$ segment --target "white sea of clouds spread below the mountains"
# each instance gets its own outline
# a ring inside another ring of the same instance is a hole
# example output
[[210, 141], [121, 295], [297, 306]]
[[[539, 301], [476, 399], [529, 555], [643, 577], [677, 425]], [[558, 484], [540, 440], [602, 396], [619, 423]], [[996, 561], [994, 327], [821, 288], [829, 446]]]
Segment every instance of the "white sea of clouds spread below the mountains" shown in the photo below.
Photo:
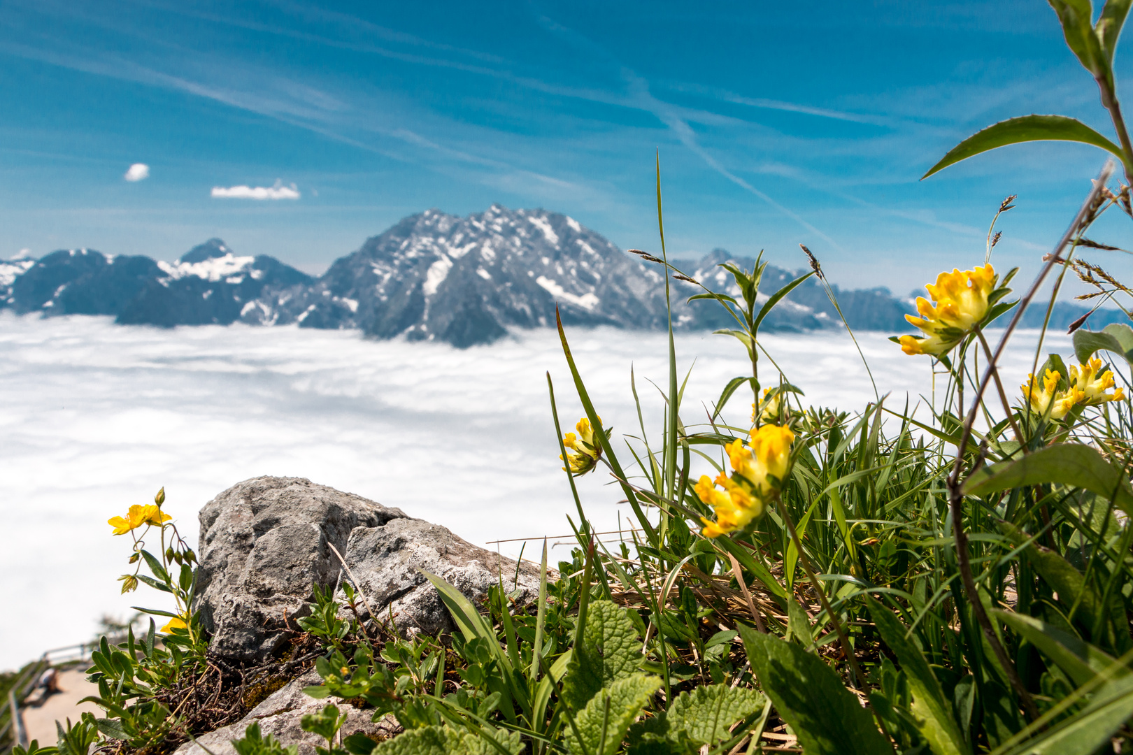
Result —
[[[666, 337], [568, 333], [607, 427], [661, 435]], [[1013, 394], [1031, 368], [1037, 334], [1019, 334], [1003, 364]], [[931, 396], [927, 357], [906, 357], [883, 334], [860, 334], [888, 404]], [[767, 335], [763, 343], [816, 405], [860, 410], [874, 388], [840, 333]], [[727, 336], [676, 338], [681, 376], [692, 367], [682, 417], [706, 417], [723, 385], [750, 369]], [[1068, 355], [1070, 340], [1045, 350]], [[695, 360], [695, 364], [693, 364]], [[775, 368], [760, 361], [767, 385]], [[220, 491], [262, 474], [305, 477], [443, 524], [516, 556], [520, 541], [563, 535], [574, 513], [547, 397], [555, 383], [564, 430], [580, 415], [553, 331], [518, 333], [465, 351], [375, 342], [353, 331], [295, 327], [121, 327], [108, 318], [0, 316], [0, 669], [90, 640], [102, 615], [160, 604], [142, 587], [119, 594], [127, 538], [107, 520], [167, 491], [165, 511], [196, 542], [196, 513]], [[731, 418], [743, 421], [750, 397]], [[920, 410], [927, 420], [928, 413]], [[628, 454], [625, 454], [628, 456]], [[599, 527], [625, 525], [627, 507], [600, 471], [579, 481]], [[576, 517], [577, 518], [577, 517]], [[553, 551], [565, 556], [569, 542]], [[525, 557], [537, 557], [537, 542]]]

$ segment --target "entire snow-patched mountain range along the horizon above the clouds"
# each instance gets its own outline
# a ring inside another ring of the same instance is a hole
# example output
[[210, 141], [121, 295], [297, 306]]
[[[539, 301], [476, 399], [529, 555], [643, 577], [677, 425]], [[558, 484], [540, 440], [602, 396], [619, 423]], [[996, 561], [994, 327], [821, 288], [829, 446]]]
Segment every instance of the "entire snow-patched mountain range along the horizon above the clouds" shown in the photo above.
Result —
[[[674, 265], [714, 291], [739, 297], [731, 276], [718, 267], [724, 261], [749, 269], [755, 264], [716, 249]], [[798, 275], [768, 266], [760, 295]], [[676, 328], [733, 325], [718, 303], [687, 301], [701, 292], [698, 286], [678, 280], [671, 285]], [[884, 288], [832, 288], [854, 329], [909, 332], [904, 315], [913, 311], [911, 298]], [[91, 249], [0, 261], [0, 309], [111, 315], [123, 325], [298, 323], [467, 348], [503, 337], [509, 328], [553, 325], [556, 306], [568, 325], [662, 328], [663, 268], [560, 213], [500, 205], [467, 217], [436, 209], [406, 217], [317, 278], [274, 257], [238, 256], [220, 239], [174, 263]], [[1085, 311], [1059, 303], [1051, 326], [1066, 327]], [[1114, 315], [1099, 311], [1090, 325], [1124, 319]], [[1028, 320], [1034, 321], [1024, 325], [1039, 325], [1041, 317], [1039, 310], [1029, 311]], [[842, 327], [841, 316], [815, 277], [792, 291], [764, 324], [765, 329], [793, 332], [836, 327]]]

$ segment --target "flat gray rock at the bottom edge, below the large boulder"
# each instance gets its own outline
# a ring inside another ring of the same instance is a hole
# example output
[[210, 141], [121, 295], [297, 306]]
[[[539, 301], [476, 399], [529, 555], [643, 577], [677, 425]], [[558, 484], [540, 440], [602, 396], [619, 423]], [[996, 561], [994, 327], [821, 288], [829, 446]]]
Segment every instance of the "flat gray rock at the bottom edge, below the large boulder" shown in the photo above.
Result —
[[245, 730], [257, 722], [263, 736], [271, 735], [284, 745], [298, 745], [299, 755], [315, 755], [315, 747], [325, 747], [326, 740], [316, 733], [304, 731], [303, 717], [317, 713], [327, 703], [334, 703], [341, 713], [347, 714], [347, 721], [342, 724], [344, 735], [358, 732], [382, 740], [401, 731], [401, 727], [392, 717], [373, 722], [370, 721], [373, 711], [358, 710], [337, 697], [315, 700], [304, 694], [304, 687], [321, 681], [317, 674], [308, 671], [256, 705], [241, 720], [201, 735], [196, 741], [185, 743], [177, 748], [174, 755], [236, 755], [232, 740], [241, 738]]

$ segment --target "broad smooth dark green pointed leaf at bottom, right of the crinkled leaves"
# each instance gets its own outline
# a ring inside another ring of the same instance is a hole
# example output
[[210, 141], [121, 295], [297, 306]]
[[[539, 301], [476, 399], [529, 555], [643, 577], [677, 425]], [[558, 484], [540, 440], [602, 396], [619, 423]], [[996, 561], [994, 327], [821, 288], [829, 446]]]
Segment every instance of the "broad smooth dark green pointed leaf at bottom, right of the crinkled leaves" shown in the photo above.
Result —
[[799, 645], [739, 627], [748, 660], [807, 755], [892, 755], [870, 714], [826, 662]]

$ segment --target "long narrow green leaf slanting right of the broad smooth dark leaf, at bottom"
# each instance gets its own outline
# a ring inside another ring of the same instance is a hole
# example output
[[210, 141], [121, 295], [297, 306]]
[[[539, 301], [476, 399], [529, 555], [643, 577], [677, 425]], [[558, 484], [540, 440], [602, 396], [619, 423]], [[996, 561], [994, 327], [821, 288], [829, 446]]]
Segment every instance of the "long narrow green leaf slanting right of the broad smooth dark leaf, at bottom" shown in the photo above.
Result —
[[869, 597], [866, 602], [881, 640], [897, 654], [901, 669], [909, 680], [913, 694], [911, 709], [917, 730], [936, 755], [966, 755], [971, 750], [952, 715], [952, 705], [944, 695], [944, 688], [932, 674], [925, 655], [905, 636], [904, 626], [889, 609]]

